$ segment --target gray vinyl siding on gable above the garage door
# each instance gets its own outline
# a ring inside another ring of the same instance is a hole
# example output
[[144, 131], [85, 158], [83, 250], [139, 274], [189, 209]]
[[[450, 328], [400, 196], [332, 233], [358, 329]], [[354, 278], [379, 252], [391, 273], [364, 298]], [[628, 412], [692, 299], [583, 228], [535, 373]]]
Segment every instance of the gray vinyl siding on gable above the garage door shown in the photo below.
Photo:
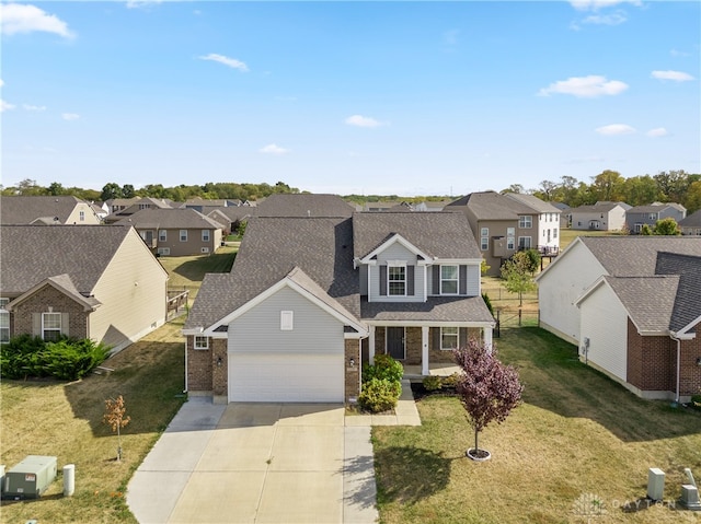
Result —
[[[280, 312], [294, 328], [280, 329]], [[265, 340], [262, 345], [261, 340]], [[229, 324], [229, 351], [343, 353], [343, 323], [290, 288], [283, 288]]]

